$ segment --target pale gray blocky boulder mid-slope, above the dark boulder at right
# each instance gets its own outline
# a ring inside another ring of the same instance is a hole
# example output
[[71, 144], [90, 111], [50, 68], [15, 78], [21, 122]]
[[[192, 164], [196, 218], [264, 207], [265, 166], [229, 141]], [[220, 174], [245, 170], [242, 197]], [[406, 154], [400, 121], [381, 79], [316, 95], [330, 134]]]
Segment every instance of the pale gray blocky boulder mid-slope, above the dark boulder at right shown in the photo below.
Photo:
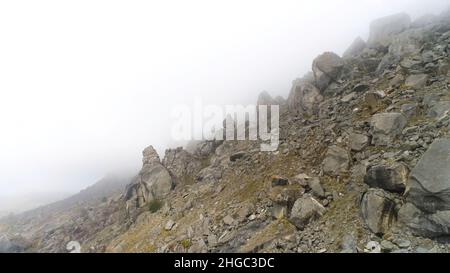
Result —
[[372, 144], [387, 146], [399, 136], [407, 124], [401, 113], [381, 113], [372, 117]]

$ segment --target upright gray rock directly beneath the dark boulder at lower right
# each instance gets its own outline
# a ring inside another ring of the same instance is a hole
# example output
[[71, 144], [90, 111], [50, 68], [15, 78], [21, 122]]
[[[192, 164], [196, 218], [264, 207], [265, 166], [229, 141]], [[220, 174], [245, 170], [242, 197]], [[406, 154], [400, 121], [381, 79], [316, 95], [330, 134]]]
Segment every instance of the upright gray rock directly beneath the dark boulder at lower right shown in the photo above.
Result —
[[395, 201], [381, 189], [369, 189], [360, 203], [361, 216], [373, 233], [382, 235], [396, 221]]

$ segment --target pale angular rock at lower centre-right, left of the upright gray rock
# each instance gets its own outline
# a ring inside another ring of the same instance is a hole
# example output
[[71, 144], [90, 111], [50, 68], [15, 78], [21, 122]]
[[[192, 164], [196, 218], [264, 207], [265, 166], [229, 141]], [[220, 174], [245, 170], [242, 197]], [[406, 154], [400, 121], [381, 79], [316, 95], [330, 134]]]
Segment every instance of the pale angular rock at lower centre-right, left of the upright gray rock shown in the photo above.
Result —
[[304, 229], [310, 222], [322, 217], [326, 209], [316, 199], [303, 196], [295, 201], [289, 221], [298, 229]]

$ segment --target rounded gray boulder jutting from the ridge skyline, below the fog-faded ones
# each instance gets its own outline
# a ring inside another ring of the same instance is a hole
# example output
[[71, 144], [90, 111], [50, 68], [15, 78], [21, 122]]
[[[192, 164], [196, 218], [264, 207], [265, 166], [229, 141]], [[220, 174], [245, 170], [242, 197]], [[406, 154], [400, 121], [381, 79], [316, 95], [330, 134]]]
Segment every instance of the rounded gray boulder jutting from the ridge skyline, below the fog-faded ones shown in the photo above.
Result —
[[336, 81], [343, 66], [342, 58], [333, 52], [325, 52], [314, 59], [312, 70], [317, 88], [324, 91], [331, 82]]

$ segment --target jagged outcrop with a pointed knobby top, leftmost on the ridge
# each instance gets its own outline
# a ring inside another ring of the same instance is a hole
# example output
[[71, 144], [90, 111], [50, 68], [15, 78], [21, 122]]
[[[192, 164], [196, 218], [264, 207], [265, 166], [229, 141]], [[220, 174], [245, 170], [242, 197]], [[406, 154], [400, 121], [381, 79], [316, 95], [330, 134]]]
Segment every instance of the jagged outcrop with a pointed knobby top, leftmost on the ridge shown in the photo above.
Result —
[[161, 164], [153, 146], [145, 148], [142, 154], [142, 169], [127, 186], [125, 194], [129, 210], [143, 207], [152, 200], [165, 198], [174, 186], [169, 171]]

